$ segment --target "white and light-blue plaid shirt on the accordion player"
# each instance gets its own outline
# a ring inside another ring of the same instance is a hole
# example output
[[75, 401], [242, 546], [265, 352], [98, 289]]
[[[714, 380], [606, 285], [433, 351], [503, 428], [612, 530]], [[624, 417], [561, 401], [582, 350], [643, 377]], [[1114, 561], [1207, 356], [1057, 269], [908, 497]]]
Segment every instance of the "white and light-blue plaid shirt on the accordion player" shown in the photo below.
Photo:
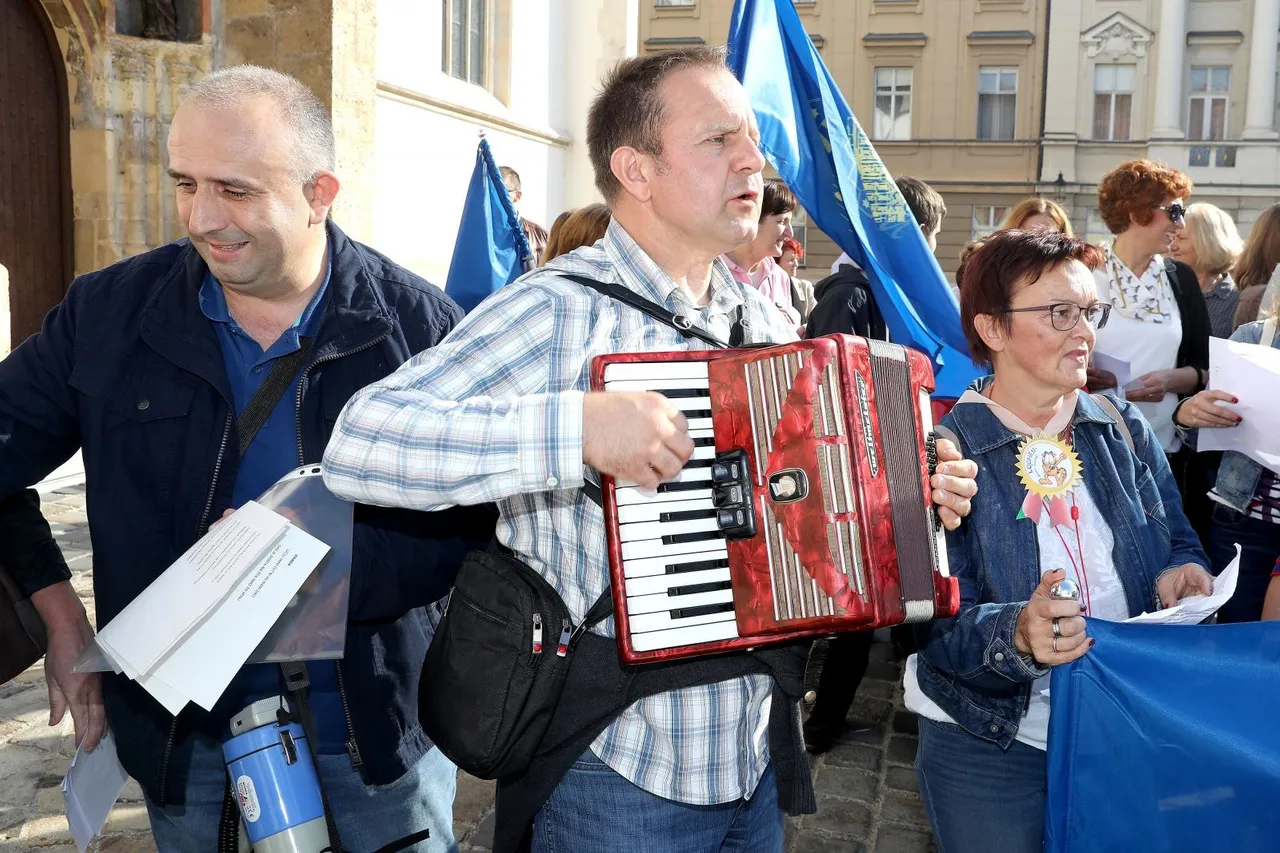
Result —
[[[584, 483], [582, 394], [607, 352], [707, 348], [648, 315], [561, 278], [616, 282], [728, 338], [744, 306], [745, 342], [795, 339], [753, 288], [712, 272], [699, 309], [616, 222], [595, 246], [486, 298], [439, 346], [347, 405], [325, 452], [325, 483], [362, 503], [438, 510], [497, 501], [498, 539], [539, 571], [579, 622], [608, 585], [604, 517]], [[598, 476], [593, 473], [593, 479]], [[596, 629], [613, 637], [613, 619]], [[764, 675], [649, 697], [591, 744], [640, 788], [681, 803], [750, 797], [768, 766]]]

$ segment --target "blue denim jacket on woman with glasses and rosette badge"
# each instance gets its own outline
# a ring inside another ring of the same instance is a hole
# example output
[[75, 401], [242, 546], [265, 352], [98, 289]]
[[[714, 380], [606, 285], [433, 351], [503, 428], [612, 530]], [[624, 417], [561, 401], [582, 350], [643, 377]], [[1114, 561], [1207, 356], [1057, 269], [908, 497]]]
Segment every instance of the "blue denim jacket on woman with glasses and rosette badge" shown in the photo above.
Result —
[[[1129, 402], [1117, 409], [1133, 450], [1115, 420], [1080, 394], [1071, 442], [1089, 494], [1115, 537], [1112, 558], [1129, 612], [1157, 610], [1156, 579], [1187, 562], [1208, 566], [1183, 515], [1181, 498], [1156, 434]], [[970, 734], [1009, 748], [1030, 701], [1032, 681], [1048, 674], [1014, 646], [1018, 616], [1039, 584], [1036, 523], [1015, 520], [1025, 497], [1018, 479], [1019, 437], [987, 406], [956, 406], [942, 419], [978, 464], [978, 496], [959, 530], [947, 533], [951, 574], [960, 580], [960, 612], [918, 629], [920, 689]]]

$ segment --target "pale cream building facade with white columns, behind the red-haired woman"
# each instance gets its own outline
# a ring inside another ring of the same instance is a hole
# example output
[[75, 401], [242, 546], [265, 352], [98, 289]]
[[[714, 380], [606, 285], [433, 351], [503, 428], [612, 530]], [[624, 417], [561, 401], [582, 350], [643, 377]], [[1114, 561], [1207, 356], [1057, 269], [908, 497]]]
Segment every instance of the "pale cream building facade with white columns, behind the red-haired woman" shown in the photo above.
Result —
[[1280, 199], [1280, 0], [1053, 0], [1048, 41], [1039, 190], [1091, 240], [1124, 160], [1185, 172], [1242, 234]]

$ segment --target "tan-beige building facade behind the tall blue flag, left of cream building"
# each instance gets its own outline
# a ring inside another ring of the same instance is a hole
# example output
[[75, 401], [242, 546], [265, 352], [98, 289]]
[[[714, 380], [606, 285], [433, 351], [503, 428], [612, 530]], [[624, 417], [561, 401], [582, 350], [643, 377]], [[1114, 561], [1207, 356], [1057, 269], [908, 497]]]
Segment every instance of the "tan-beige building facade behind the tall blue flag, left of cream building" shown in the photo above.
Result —
[[[1059, 0], [1055, 0], [1055, 5]], [[641, 50], [724, 44], [733, 0], [643, 0]], [[1034, 193], [1041, 174], [1046, 0], [796, 0], [800, 20], [895, 175], [947, 202], [938, 263]], [[809, 275], [840, 250], [800, 216]]]

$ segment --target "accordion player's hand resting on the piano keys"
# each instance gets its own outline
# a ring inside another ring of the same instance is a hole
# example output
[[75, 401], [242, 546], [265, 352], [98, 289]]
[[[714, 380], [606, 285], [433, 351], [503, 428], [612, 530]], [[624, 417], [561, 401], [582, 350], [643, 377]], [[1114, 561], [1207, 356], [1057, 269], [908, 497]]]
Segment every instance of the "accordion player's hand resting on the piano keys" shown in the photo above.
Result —
[[675, 479], [694, 453], [689, 420], [652, 392], [589, 392], [582, 397], [582, 461], [655, 489]]

